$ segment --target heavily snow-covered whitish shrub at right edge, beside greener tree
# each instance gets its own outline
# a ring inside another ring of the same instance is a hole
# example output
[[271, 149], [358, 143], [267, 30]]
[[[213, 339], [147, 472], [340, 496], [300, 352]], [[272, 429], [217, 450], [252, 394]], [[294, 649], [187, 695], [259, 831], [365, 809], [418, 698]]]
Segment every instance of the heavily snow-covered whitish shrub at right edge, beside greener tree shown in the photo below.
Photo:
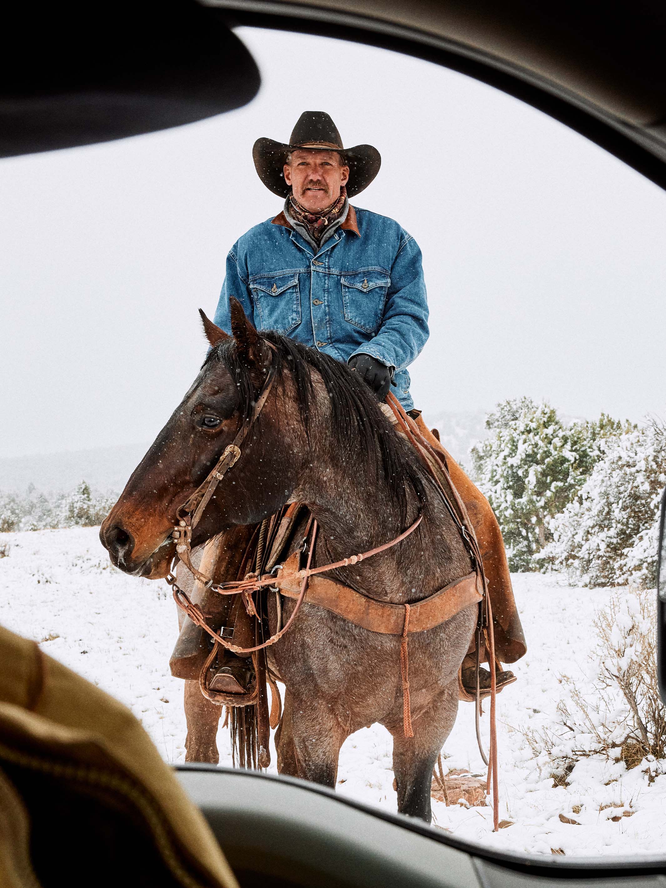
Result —
[[551, 520], [543, 563], [586, 586], [654, 586], [666, 427], [632, 428], [600, 447], [579, 495]]

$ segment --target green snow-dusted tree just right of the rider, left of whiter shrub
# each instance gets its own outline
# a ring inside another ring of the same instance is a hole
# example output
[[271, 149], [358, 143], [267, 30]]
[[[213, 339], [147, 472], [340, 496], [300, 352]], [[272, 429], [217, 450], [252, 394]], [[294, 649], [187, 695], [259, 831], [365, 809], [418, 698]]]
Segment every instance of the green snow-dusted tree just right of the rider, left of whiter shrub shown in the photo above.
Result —
[[549, 404], [529, 398], [498, 404], [486, 425], [492, 434], [471, 450], [476, 480], [499, 521], [511, 570], [539, 570], [535, 554], [552, 540], [551, 519], [582, 487], [602, 440], [622, 425], [602, 414], [567, 426]]

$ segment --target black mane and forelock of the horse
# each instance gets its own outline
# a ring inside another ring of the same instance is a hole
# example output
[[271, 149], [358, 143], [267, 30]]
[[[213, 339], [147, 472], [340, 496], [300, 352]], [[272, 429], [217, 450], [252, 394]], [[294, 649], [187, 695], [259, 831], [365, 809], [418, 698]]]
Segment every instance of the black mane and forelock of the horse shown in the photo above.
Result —
[[[430, 479], [416, 454], [393, 432], [369, 386], [328, 354], [281, 336], [274, 330], [262, 331], [261, 335], [275, 346], [276, 379], [281, 380], [286, 372], [293, 379], [305, 432], [309, 435], [315, 396], [311, 371], [315, 370], [329, 392], [331, 428], [336, 433], [340, 450], [354, 462], [364, 462], [364, 468], [376, 480], [380, 477], [386, 480], [389, 494], [399, 511], [401, 526], [407, 520], [408, 490], [416, 495], [419, 509], [424, 511], [428, 503], [425, 487], [430, 486]], [[249, 419], [257, 394], [256, 384], [250, 368], [239, 356], [235, 340], [230, 337], [211, 348], [203, 367], [211, 361], [223, 363], [235, 379], [239, 392], [238, 409], [244, 419]]]

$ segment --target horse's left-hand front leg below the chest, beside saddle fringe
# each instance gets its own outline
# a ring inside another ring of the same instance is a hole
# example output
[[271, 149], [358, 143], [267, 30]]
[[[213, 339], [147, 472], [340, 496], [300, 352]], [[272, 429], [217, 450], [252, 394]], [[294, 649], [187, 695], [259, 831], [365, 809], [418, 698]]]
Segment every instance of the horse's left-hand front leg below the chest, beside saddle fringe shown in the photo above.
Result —
[[278, 771], [335, 789], [345, 737], [324, 702], [285, 694], [278, 738]]

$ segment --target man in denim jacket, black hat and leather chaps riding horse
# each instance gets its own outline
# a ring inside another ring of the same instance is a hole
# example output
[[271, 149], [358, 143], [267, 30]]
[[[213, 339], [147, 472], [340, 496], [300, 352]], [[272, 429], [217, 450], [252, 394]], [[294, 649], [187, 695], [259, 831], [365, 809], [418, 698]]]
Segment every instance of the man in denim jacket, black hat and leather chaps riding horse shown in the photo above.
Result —
[[[284, 199], [284, 206], [273, 219], [243, 234], [229, 251], [215, 324], [231, 330], [230, 297], [235, 297], [259, 331], [276, 330], [345, 362], [378, 400], [392, 392], [421, 434], [445, 456], [483, 559], [500, 690], [515, 680], [502, 670], [501, 662], [515, 662], [527, 649], [502, 535], [488, 501], [426, 428], [409, 393], [408, 365], [428, 338], [421, 250], [393, 219], [349, 202], [377, 176], [379, 152], [369, 145], [343, 147], [328, 114], [306, 111], [289, 143], [258, 139], [253, 158], [259, 178]], [[231, 559], [229, 569], [235, 567]], [[241, 608], [229, 622], [242, 618]], [[188, 657], [191, 650], [181, 638], [170, 662], [174, 675], [192, 678]], [[485, 652], [481, 659], [490, 660]], [[459, 678], [462, 700], [474, 698], [477, 664], [472, 639]], [[212, 686], [242, 694], [251, 678], [251, 661], [226, 652]], [[479, 680], [481, 692], [488, 693], [488, 670], [480, 670]]]

